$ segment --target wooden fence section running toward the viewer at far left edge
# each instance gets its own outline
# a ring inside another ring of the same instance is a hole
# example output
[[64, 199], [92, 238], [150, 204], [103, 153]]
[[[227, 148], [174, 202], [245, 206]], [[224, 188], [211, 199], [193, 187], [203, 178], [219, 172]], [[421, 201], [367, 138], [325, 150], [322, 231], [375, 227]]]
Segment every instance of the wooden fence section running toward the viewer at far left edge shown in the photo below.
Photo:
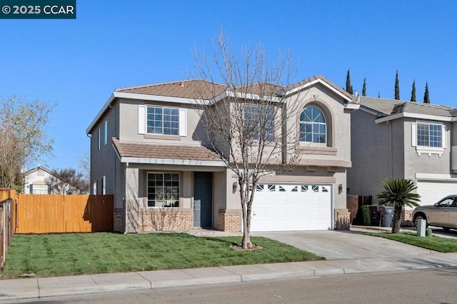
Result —
[[0, 189], [0, 265], [16, 228], [16, 191]]

